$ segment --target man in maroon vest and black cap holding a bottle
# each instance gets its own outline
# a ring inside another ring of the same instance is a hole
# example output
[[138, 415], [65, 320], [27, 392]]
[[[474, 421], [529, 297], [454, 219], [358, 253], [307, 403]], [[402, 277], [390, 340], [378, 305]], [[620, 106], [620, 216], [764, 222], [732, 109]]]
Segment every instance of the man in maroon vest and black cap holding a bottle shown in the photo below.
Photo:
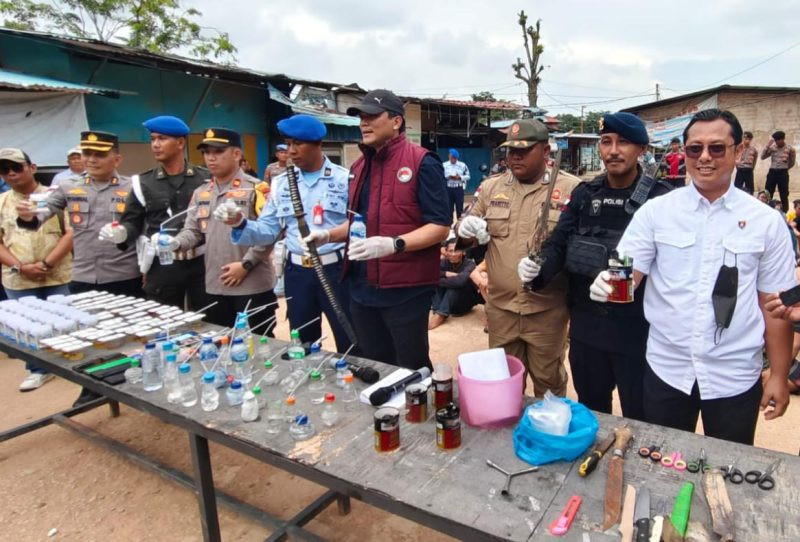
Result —
[[[373, 90], [347, 114], [361, 118], [363, 153], [350, 168], [349, 202], [367, 226], [365, 239], [348, 242], [343, 273], [358, 346], [384, 363], [430, 367], [428, 312], [452, 221], [442, 162], [406, 139], [403, 102], [392, 92]], [[349, 225], [304, 241], [347, 241]]]

